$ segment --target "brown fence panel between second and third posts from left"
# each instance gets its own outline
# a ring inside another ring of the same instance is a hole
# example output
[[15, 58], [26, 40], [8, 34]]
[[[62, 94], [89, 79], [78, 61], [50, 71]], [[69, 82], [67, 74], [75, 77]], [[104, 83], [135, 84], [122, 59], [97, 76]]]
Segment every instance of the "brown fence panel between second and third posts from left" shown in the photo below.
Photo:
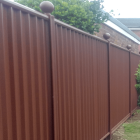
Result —
[[129, 114], [129, 52], [110, 49], [111, 128]]

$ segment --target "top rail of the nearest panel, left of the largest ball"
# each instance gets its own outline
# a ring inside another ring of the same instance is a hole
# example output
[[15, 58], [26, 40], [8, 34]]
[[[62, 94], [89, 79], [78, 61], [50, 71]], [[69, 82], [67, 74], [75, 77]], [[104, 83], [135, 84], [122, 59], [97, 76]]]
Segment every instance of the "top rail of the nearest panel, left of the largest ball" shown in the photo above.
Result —
[[44, 15], [36, 10], [33, 10], [29, 7], [26, 7], [22, 4], [19, 4], [17, 2], [13, 2], [13, 1], [10, 1], [10, 0], [0, 0], [0, 3], [4, 4], [4, 5], [7, 5], [7, 6], [10, 6], [10, 7], [13, 7], [15, 9], [18, 9], [18, 10], [21, 10], [23, 12], [27, 12], [33, 16], [37, 16], [37, 17], [40, 17], [40, 18], [43, 18], [45, 20], [48, 20], [48, 16], [47, 15]]

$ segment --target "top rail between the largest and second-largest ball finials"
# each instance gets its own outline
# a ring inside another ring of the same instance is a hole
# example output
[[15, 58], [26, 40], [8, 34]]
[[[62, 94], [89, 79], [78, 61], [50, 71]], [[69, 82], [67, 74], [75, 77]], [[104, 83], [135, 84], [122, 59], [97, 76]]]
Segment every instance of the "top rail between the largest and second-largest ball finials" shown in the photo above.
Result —
[[55, 19], [55, 22], [56, 22], [58, 25], [60, 25], [60, 26], [66, 27], [66, 28], [68, 28], [68, 29], [72, 29], [72, 30], [74, 30], [74, 31], [76, 31], [76, 32], [78, 32], [78, 33], [83, 34], [83, 35], [87, 35], [87, 36], [89, 36], [89, 37], [91, 37], [91, 38], [95, 38], [95, 39], [100, 40], [100, 41], [105, 42], [105, 43], [108, 42], [108, 41], [106, 41], [106, 40], [104, 40], [104, 39], [102, 39], [102, 38], [99, 38], [99, 37], [97, 37], [97, 36], [95, 36], [95, 35], [89, 34], [89, 33], [85, 32], [85, 31], [83, 31], [83, 30], [80, 30], [80, 29], [78, 29], [78, 28], [76, 28], [76, 27], [73, 27], [73, 26], [71, 26], [71, 25], [69, 25], [69, 24], [67, 24], [67, 23], [64, 23], [64, 22], [60, 21], [60, 20]]

